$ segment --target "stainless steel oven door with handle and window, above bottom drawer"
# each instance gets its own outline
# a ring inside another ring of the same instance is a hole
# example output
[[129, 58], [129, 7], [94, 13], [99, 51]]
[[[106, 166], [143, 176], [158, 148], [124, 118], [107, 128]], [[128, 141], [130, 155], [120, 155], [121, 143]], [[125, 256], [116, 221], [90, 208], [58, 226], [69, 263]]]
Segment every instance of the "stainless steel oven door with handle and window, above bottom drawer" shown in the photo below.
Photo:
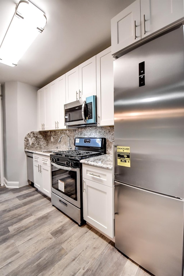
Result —
[[65, 167], [51, 162], [51, 192], [81, 208], [80, 169]]

